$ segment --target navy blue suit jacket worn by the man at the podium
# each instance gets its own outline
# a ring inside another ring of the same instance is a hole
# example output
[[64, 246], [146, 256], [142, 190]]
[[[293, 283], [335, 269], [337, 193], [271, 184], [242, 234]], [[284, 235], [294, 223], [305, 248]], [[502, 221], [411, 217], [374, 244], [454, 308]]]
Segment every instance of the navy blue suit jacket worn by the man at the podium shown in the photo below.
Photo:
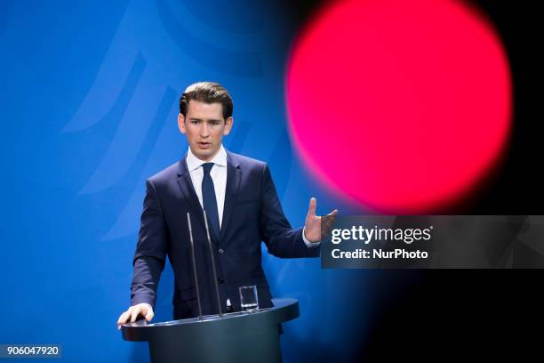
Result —
[[[227, 164], [220, 238], [212, 237], [220, 306], [225, 311], [229, 298], [235, 311], [239, 311], [238, 286], [256, 285], [260, 307], [271, 307], [272, 296], [261, 267], [261, 241], [268, 247], [268, 253], [283, 258], [316, 257], [320, 249], [318, 246], [308, 248], [302, 239], [302, 229], [292, 230], [285, 219], [266, 163], [227, 152]], [[133, 260], [132, 305], [149, 303], [155, 308], [156, 287], [168, 256], [174, 273], [174, 319], [198, 314], [190, 257], [189, 212], [203, 313], [217, 314], [204, 213], [193, 188], [186, 158], [149, 178], [146, 187]]]

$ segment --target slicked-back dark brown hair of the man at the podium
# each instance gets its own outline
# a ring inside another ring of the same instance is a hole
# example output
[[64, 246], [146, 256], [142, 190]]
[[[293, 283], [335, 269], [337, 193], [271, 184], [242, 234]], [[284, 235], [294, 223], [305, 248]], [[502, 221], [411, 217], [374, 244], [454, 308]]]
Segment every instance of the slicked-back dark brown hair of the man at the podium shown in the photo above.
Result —
[[180, 114], [187, 117], [188, 103], [191, 100], [205, 103], [219, 102], [223, 106], [223, 118], [232, 116], [233, 103], [226, 88], [215, 82], [197, 82], [189, 85], [180, 97]]

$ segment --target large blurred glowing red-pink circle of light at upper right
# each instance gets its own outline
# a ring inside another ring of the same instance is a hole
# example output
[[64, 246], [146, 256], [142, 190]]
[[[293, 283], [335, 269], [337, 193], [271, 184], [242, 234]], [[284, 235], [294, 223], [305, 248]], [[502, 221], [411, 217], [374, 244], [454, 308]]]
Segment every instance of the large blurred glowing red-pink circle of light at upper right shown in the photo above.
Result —
[[499, 37], [466, 4], [332, 3], [292, 50], [292, 139], [333, 190], [384, 212], [432, 211], [496, 163], [510, 82]]

